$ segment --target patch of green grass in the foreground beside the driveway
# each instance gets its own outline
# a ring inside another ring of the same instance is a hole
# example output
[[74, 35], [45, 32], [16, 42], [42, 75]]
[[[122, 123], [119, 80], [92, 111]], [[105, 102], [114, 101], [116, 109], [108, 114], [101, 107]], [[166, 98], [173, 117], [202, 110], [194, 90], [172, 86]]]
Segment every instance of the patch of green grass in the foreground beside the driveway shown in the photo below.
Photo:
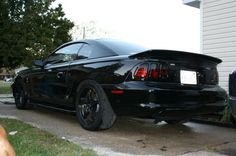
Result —
[[46, 131], [14, 119], [0, 118], [7, 132], [17, 131], [8, 139], [17, 156], [94, 156], [94, 151], [60, 139]]

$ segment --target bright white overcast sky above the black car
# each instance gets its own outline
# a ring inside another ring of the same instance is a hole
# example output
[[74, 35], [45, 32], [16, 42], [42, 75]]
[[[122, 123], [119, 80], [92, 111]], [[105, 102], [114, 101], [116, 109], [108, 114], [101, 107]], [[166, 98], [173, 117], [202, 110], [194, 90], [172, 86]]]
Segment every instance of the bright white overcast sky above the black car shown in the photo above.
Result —
[[182, 0], [56, 0], [54, 5], [58, 3], [75, 25], [95, 21], [109, 37], [155, 49], [200, 52], [200, 10]]

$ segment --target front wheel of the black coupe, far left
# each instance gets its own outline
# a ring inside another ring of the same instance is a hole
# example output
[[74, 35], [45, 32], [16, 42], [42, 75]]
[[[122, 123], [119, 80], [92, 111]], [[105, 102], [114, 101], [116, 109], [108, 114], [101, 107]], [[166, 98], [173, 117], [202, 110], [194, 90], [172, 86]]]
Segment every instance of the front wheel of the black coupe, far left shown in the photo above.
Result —
[[22, 84], [19, 82], [19, 80], [18, 80], [18, 82], [16, 82], [16, 85], [15, 85], [14, 98], [15, 98], [16, 108], [26, 109], [27, 97], [25, 94], [25, 90], [24, 90]]

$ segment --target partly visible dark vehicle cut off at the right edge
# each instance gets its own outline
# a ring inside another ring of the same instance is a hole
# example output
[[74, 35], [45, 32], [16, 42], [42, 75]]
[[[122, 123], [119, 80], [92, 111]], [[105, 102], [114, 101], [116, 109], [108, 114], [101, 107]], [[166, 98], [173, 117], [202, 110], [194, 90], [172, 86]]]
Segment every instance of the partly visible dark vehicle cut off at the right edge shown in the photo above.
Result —
[[229, 74], [229, 106], [231, 121], [236, 124], [236, 70]]

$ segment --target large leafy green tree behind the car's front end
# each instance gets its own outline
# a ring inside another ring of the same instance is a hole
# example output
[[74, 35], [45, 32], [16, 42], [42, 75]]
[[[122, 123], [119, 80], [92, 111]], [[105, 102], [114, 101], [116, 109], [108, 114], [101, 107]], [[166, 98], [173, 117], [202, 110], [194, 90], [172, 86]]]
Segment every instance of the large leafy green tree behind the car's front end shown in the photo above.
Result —
[[74, 24], [55, 0], [0, 2], [0, 67], [31, 66], [57, 46], [70, 41]]

